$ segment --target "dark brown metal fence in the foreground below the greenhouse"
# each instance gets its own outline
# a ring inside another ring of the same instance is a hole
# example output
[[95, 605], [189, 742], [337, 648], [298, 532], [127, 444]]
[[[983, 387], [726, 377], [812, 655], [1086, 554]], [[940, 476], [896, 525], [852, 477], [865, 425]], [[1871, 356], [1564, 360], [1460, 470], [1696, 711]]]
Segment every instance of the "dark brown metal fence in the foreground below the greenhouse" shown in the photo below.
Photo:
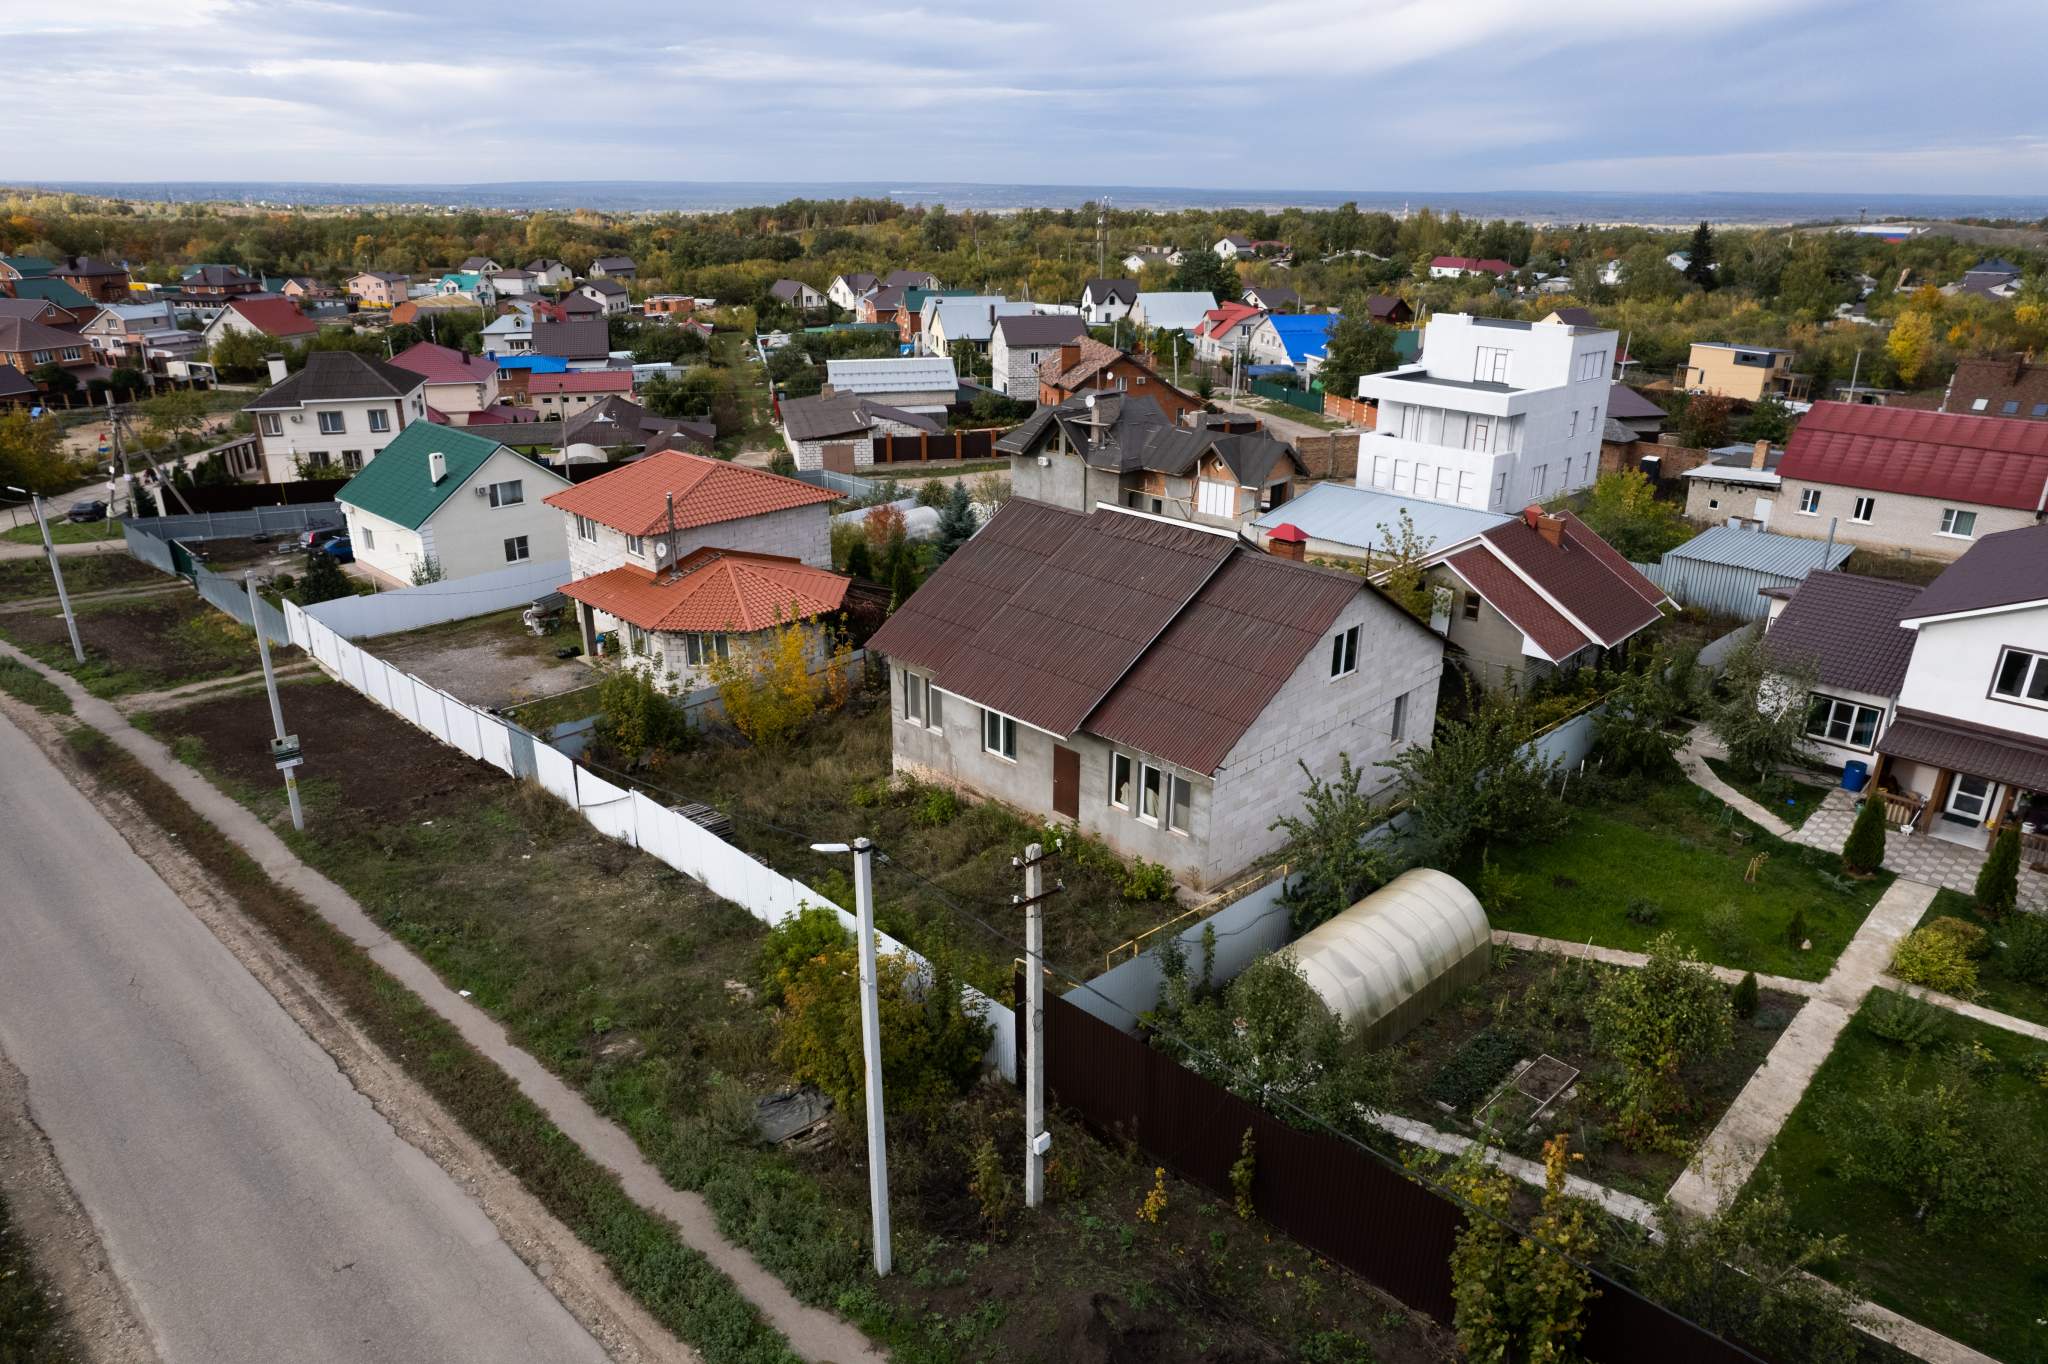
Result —
[[[1018, 985], [1022, 1001], [1022, 975]], [[1044, 1030], [1055, 1104], [1223, 1196], [1251, 1128], [1262, 1219], [1450, 1325], [1450, 1251], [1464, 1227], [1454, 1202], [1346, 1141], [1280, 1122], [1067, 999], [1047, 999]], [[1018, 1028], [1020, 1051], [1024, 1034]], [[1595, 1364], [1759, 1364], [1604, 1274], [1593, 1282], [1581, 1354]]]

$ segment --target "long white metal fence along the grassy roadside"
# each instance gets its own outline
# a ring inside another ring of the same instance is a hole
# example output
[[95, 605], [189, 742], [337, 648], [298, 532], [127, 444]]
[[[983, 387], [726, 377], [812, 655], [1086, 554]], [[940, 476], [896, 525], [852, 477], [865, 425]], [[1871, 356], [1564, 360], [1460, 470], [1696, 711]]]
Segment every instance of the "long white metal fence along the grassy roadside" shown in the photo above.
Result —
[[[393, 592], [387, 596], [403, 594]], [[334, 602], [324, 602], [319, 608], [330, 604]], [[764, 924], [780, 924], [803, 903], [831, 905], [829, 899], [811, 887], [784, 877], [772, 866], [762, 866], [692, 819], [684, 819], [637, 791], [614, 786], [580, 766], [573, 758], [541, 743], [524, 729], [477, 711], [412, 674], [399, 672], [350, 643], [338, 629], [319, 621], [311, 610], [287, 602], [285, 621], [291, 643], [319, 659], [322, 668], [385, 711], [399, 715], [442, 743], [459, 748], [463, 754], [487, 762], [508, 776], [539, 780], [549, 795], [565, 801], [606, 838], [616, 838], [647, 856], [659, 858]], [[838, 909], [836, 905], [831, 907]], [[838, 915], [848, 930], [854, 930], [852, 913], [838, 909]], [[899, 952], [918, 963], [920, 971], [928, 971], [922, 956], [889, 934], [877, 934], [877, 942], [881, 950]], [[1004, 1079], [1016, 1081], [1016, 1012], [977, 989], [967, 989], [967, 1008], [977, 1012], [995, 1032], [989, 1047], [989, 1063], [1001, 1071]]]

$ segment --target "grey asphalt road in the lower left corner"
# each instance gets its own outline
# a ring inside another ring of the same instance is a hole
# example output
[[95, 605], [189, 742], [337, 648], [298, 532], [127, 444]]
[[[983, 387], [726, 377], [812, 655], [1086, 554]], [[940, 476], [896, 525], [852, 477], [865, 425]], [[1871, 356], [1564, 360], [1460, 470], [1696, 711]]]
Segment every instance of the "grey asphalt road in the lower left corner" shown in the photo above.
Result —
[[6, 719], [0, 1049], [166, 1362], [606, 1358]]

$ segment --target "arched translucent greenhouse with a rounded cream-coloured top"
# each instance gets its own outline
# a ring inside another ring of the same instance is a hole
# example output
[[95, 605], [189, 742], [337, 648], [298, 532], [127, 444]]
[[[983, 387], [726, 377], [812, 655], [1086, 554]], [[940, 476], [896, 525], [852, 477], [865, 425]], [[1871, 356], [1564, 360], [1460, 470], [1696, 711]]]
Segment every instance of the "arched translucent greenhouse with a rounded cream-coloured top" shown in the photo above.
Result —
[[1311, 928], [1290, 952], [1329, 1012], [1380, 1047], [1479, 981], [1493, 934], [1464, 883], [1417, 866]]

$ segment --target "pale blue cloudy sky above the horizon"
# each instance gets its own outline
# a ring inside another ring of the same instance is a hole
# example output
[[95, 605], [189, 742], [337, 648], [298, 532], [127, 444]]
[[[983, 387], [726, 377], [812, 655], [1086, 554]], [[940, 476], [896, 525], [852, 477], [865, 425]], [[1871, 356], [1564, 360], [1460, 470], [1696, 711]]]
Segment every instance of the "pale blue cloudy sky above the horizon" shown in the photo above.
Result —
[[2048, 184], [2038, 0], [4, 0], [0, 180]]

